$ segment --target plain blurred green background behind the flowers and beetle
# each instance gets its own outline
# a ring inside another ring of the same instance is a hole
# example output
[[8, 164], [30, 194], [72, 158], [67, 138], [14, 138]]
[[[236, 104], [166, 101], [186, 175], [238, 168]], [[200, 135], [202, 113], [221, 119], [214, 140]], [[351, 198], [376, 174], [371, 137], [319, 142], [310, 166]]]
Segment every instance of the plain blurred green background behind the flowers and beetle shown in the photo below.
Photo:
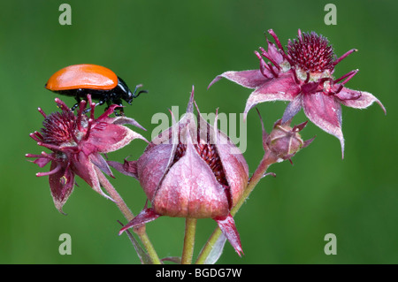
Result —
[[[398, 263], [397, 187], [397, 35], [396, 1], [333, 1], [337, 25], [326, 26], [330, 1], [73, 1], [72, 26], [61, 26], [65, 1], [2, 1], [0, 4], [0, 77], [2, 128], [0, 154], [0, 263], [139, 263], [126, 235], [118, 236], [124, 218], [112, 202], [78, 179], [64, 216], [54, 208], [48, 178], [27, 162], [39, 154], [28, 134], [42, 127], [37, 107], [56, 111], [56, 95], [44, 89], [53, 72], [73, 64], [105, 65], [133, 88], [142, 83], [148, 95], [134, 100], [126, 114], [150, 133], [152, 115], [174, 106], [185, 109], [192, 85], [202, 112], [236, 113], [244, 109], [250, 89], [227, 80], [210, 90], [216, 75], [255, 69], [253, 54], [266, 47], [272, 28], [284, 44], [303, 32], [324, 34], [337, 56], [356, 48], [337, 66], [335, 75], [360, 72], [348, 88], [376, 95], [387, 116], [372, 105], [360, 111], [343, 108], [345, 158], [340, 142], [310, 124], [308, 149], [288, 162], [272, 165], [276, 178], [264, 178], [235, 217], [245, 255], [227, 243], [218, 263]], [[65, 97], [73, 104], [73, 98]], [[266, 128], [281, 117], [286, 103], [258, 106]], [[180, 111], [182, 113], [182, 111]], [[306, 120], [303, 113], [295, 124]], [[255, 111], [249, 112], [250, 172], [263, 149]], [[143, 141], [109, 155], [122, 161], [138, 158]], [[145, 196], [138, 182], [115, 172], [112, 183], [138, 213]], [[215, 227], [198, 221], [195, 255]], [[178, 256], [184, 219], [160, 217], [147, 225], [158, 255]], [[72, 255], [59, 255], [58, 237], [72, 236]], [[337, 236], [337, 255], [325, 255], [325, 234]]]

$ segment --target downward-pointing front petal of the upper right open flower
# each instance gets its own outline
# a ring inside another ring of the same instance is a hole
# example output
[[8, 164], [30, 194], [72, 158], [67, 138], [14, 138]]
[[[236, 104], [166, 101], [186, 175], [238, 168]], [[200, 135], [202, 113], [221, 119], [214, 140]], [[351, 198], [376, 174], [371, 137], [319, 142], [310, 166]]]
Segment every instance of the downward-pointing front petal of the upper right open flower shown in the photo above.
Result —
[[333, 95], [318, 92], [311, 95], [302, 95], [302, 108], [311, 122], [340, 140], [341, 153], [344, 156], [340, 102]]

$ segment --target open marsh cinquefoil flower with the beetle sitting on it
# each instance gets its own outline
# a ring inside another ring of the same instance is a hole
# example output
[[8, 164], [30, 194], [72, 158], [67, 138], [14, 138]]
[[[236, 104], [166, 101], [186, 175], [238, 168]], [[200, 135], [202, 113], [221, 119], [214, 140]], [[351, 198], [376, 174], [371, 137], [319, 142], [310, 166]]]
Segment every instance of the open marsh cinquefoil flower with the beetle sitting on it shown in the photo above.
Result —
[[[27, 154], [34, 157], [34, 164], [40, 167], [50, 164], [50, 171], [38, 172], [37, 176], [49, 176], [50, 191], [57, 210], [63, 213], [69, 195], [73, 192], [75, 175], [80, 176], [97, 193], [109, 198], [103, 193], [97, 173], [104, 173], [113, 177], [111, 170], [100, 153], [108, 153], [121, 149], [135, 138], [145, 140], [141, 134], [135, 133], [123, 124], [130, 124], [142, 128], [133, 118], [109, 116], [118, 105], [111, 105], [99, 118], [94, 118], [95, 103], [90, 104], [90, 117], [83, 114], [86, 101], [80, 102], [77, 116], [64, 102], [55, 99], [61, 111], [46, 115], [39, 108], [44, 117], [41, 132], [30, 133], [30, 137], [39, 146], [50, 149], [52, 153], [42, 152], [41, 155]], [[143, 128], [142, 128], [143, 129]]]

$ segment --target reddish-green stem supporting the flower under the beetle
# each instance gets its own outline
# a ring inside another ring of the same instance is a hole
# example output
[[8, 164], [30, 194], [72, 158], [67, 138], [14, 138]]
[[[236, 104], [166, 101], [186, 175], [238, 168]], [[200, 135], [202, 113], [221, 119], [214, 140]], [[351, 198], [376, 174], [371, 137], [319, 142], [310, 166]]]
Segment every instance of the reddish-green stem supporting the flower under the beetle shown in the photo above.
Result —
[[[126, 217], [126, 220], [127, 221], [133, 220], [134, 218], [133, 212], [127, 207], [126, 202], [123, 201], [123, 198], [120, 196], [118, 191], [116, 191], [115, 187], [113, 187], [111, 185], [111, 182], [103, 175], [103, 172], [100, 171], [98, 168], [96, 168], [96, 174], [101, 183], [101, 186], [105, 188], [106, 192], [108, 192], [108, 194], [111, 196], [111, 198], [116, 203], [123, 216]], [[141, 227], [134, 229], [134, 232], [138, 235], [138, 237], [142, 241], [142, 245], [147, 250], [149, 257], [152, 260], [152, 263], [161, 264], [159, 257], [157, 256], [157, 252], [155, 251], [155, 248], [153, 248], [153, 245], [150, 242], [149, 237], [145, 231], [145, 225], [142, 225]]]

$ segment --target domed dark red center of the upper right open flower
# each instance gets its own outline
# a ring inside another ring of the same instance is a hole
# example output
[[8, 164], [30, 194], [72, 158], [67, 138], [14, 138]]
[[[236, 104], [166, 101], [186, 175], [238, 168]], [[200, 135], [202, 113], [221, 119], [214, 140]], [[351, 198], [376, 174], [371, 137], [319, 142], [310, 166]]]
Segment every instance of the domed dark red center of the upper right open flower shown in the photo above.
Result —
[[287, 54], [296, 68], [304, 72], [333, 71], [333, 47], [328, 40], [314, 32], [302, 34], [293, 42], [287, 43]]

